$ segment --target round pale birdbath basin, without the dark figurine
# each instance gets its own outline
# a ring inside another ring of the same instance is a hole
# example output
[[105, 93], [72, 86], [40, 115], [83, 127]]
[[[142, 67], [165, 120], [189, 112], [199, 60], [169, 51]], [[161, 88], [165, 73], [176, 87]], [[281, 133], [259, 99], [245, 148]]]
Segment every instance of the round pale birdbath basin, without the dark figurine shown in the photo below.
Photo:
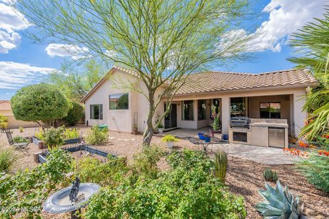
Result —
[[44, 204], [44, 211], [53, 214], [61, 214], [85, 207], [90, 198], [99, 192], [101, 186], [97, 183], [80, 183], [79, 192], [77, 194], [77, 197], [80, 196], [80, 198], [78, 198], [78, 201], [75, 203], [71, 203], [69, 199], [71, 188], [71, 186], [66, 187], [47, 198]]

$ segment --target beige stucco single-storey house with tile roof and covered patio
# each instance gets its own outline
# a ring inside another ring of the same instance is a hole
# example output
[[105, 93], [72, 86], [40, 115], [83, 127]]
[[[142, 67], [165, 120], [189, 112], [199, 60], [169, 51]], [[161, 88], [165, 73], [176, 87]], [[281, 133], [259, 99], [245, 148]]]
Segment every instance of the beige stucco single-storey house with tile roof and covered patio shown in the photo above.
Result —
[[[289, 136], [296, 136], [304, 126], [302, 111], [306, 92], [317, 86], [307, 70], [278, 70], [269, 73], [231, 73], [209, 71], [189, 75], [173, 97], [171, 112], [164, 118], [164, 129], [199, 129], [212, 123], [211, 112], [220, 115], [222, 133], [230, 132], [230, 118], [281, 119], [287, 123]], [[130, 89], [133, 88], [133, 89]], [[86, 123], [107, 124], [110, 130], [144, 131], [148, 101], [142, 81], [134, 71], [114, 66], [84, 96]], [[163, 114], [166, 100], [161, 100], [156, 114]], [[154, 120], [156, 119], [156, 116]], [[287, 138], [287, 134], [286, 134]]]

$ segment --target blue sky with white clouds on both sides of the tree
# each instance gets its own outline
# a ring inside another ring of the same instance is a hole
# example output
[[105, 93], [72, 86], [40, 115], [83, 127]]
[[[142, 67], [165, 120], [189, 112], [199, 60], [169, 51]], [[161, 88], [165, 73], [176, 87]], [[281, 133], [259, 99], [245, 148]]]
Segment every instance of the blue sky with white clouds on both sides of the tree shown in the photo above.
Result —
[[[0, 0], [0, 99], [10, 99], [21, 88], [38, 83], [52, 70], [60, 68], [64, 60], [75, 60], [86, 51], [84, 47], [67, 47], [65, 44], [33, 44], [25, 37], [32, 28], [23, 14], [17, 14], [7, 2]], [[231, 70], [262, 73], [293, 68], [286, 59], [292, 55], [287, 44], [290, 34], [313, 17], [321, 17], [329, 0], [261, 0], [253, 10], [259, 14], [254, 31], [240, 29], [242, 34], [259, 34], [252, 44], [254, 59], [213, 70]], [[245, 21], [248, 23], [249, 21]], [[69, 51], [66, 51], [66, 48]]]

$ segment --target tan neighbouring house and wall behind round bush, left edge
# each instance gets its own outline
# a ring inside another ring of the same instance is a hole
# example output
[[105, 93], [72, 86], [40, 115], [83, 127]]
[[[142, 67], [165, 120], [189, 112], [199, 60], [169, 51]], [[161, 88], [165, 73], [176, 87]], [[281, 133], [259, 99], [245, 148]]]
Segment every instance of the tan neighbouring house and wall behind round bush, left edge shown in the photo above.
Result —
[[37, 123], [16, 120], [14, 114], [12, 113], [12, 107], [10, 105], [10, 101], [0, 100], [0, 114], [8, 118], [8, 127], [10, 128], [38, 127]]

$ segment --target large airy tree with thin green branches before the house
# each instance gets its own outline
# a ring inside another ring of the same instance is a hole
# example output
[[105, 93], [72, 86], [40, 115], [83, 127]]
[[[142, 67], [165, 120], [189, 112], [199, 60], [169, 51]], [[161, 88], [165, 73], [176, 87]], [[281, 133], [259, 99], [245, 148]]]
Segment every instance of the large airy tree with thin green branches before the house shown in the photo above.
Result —
[[100, 55], [136, 72], [147, 88], [137, 92], [149, 101], [145, 144], [164, 117], [154, 126], [160, 100], [171, 103], [191, 73], [245, 58], [250, 36], [239, 27], [245, 0], [18, 0], [13, 4], [39, 27], [30, 34], [37, 42], [84, 46], [87, 57]]

